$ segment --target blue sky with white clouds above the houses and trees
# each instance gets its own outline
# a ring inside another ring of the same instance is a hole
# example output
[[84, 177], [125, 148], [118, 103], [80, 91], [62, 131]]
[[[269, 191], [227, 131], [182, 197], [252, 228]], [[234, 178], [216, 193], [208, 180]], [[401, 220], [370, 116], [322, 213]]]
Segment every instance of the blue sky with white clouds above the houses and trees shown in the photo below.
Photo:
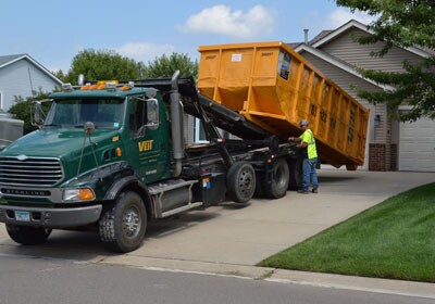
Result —
[[113, 1], [2, 0], [0, 55], [28, 53], [67, 72], [84, 49], [114, 50], [145, 63], [172, 52], [198, 59], [198, 46], [303, 40], [350, 18], [334, 0]]

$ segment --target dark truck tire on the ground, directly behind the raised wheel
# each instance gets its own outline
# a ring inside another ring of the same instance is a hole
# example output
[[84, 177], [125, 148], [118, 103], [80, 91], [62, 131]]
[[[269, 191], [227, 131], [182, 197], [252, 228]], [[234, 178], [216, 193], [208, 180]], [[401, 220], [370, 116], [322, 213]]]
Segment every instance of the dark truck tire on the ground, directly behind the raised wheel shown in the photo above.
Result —
[[279, 157], [272, 165], [272, 180], [262, 182], [263, 191], [266, 198], [279, 199], [283, 198], [288, 190], [289, 183], [289, 169], [287, 161]]

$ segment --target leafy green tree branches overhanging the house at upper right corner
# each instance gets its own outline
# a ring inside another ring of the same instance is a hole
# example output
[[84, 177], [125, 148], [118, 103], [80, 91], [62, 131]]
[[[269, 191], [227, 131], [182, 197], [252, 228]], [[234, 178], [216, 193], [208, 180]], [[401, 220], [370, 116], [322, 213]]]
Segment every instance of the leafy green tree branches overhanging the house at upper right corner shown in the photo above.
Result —
[[417, 47], [432, 55], [419, 64], [403, 62], [403, 72], [387, 73], [375, 69], [358, 71], [363, 77], [394, 90], [370, 92], [357, 89], [358, 96], [372, 103], [386, 103], [391, 110], [401, 103], [411, 105], [398, 113], [402, 122], [421, 116], [435, 119], [435, 1], [434, 0], [337, 0], [339, 7], [362, 11], [377, 20], [369, 25], [373, 35], [359, 38], [360, 43], [383, 42], [380, 51], [371, 54], [384, 56], [393, 47]]

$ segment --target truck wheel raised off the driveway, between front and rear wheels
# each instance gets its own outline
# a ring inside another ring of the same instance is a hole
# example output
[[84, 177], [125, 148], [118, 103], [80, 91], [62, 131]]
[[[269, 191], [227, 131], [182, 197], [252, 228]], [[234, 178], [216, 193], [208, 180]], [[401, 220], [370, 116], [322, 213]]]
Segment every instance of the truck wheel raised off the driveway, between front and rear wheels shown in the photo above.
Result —
[[247, 203], [256, 191], [256, 172], [251, 164], [235, 163], [228, 170], [226, 191], [229, 199], [236, 203]]

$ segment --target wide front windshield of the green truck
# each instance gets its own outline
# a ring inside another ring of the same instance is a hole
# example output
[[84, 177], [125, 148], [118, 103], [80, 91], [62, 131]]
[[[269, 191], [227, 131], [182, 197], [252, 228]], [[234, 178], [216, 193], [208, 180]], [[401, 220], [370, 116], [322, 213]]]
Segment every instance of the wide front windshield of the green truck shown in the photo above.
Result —
[[92, 122], [96, 128], [117, 129], [122, 126], [124, 100], [78, 99], [54, 100], [44, 126], [79, 128]]

